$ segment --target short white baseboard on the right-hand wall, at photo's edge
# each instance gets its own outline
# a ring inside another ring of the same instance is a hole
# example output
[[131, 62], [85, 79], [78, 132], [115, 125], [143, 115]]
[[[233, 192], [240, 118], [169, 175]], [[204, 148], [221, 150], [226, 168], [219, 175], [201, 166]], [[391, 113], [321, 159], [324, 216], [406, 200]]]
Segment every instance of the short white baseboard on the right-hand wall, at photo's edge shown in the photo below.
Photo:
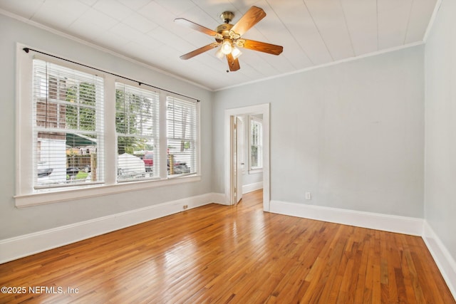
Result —
[[456, 261], [427, 221], [424, 222], [423, 240], [453, 297], [456, 299]]

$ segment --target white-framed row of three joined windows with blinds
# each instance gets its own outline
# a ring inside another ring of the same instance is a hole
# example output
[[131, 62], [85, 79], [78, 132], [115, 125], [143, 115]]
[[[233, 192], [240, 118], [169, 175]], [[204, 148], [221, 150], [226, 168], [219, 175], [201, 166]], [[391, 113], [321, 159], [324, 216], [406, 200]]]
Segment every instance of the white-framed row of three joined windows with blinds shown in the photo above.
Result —
[[200, 180], [196, 100], [17, 52], [16, 206]]

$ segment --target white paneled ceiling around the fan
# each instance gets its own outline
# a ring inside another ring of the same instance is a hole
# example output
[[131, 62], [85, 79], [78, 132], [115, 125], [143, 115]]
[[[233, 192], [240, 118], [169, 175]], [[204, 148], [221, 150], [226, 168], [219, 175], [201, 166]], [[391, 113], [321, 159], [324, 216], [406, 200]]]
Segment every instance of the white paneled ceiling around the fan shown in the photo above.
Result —
[[[423, 41], [437, 0], [0, 0], [0, 9], [218, 90]], [[243, 35], [284, 46], [279, 56], [244, 49], [227, 73], [215, 50], [179, 56], [212, 43], [174, 22], [215, 29], [251, 6], [266, 17]]]

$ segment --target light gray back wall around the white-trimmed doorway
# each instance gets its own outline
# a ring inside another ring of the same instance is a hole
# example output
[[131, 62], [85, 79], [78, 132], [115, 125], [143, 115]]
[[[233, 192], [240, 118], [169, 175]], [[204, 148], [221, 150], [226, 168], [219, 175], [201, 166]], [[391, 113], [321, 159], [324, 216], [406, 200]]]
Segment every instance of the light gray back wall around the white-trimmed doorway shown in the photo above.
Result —
[[272, 200], [423, 218], [423, 58], [415, 46], [216, 92], [214, 192], [224, 110], [271, 103]]

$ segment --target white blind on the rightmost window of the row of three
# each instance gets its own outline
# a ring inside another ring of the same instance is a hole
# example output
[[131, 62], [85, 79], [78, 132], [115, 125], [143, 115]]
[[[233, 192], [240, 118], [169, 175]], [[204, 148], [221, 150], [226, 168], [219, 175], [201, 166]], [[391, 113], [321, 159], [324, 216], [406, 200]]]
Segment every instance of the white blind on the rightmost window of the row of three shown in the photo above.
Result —
[[167, 175], [197, 173], [197, 103], [167, 96]]

